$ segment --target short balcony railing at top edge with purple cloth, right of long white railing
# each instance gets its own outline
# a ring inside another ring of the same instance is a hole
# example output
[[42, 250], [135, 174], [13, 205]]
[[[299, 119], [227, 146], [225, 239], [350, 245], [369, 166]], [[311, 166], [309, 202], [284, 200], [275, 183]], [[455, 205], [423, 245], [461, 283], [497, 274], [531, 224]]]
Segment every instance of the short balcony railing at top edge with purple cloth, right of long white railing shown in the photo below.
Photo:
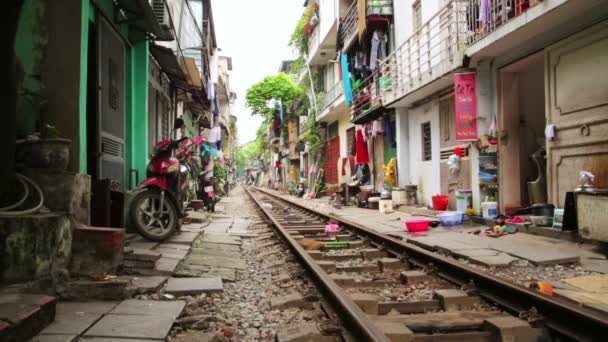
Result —
[[467, 45], [481, 40], [542, 0], [468, 0]]

